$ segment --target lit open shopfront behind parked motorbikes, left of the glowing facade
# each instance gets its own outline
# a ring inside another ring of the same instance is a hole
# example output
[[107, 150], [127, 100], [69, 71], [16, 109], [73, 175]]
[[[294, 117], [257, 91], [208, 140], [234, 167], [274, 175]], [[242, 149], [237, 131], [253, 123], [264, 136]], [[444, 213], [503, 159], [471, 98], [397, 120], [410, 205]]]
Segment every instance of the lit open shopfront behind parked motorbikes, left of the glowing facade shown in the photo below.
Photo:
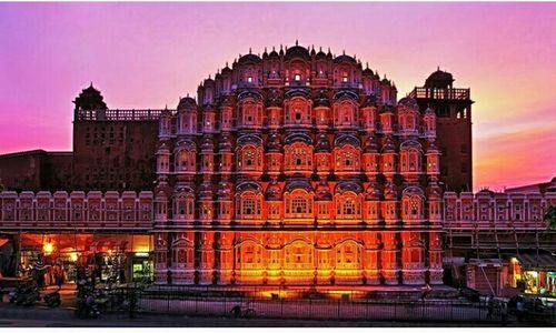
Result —
[[148, 234], [24, 233], [18, 239], [19, 274], [43, 264], [47, 284], [56, 283], [57, 278], [50, 274], [62, 275], [64, 282], [76, 282], [79, 274], [95, 276], [98, 282], [152, 279]]

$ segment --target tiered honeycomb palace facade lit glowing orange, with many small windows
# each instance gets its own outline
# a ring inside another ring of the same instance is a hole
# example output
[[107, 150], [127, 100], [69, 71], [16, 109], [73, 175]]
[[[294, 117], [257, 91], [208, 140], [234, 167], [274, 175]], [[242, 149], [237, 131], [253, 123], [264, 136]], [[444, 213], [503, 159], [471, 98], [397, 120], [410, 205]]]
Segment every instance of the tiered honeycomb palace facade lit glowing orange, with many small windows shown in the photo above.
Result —
[[247, 54], [160, 117], [160, 284], [440, 284], [436, 115], [355, 57]]

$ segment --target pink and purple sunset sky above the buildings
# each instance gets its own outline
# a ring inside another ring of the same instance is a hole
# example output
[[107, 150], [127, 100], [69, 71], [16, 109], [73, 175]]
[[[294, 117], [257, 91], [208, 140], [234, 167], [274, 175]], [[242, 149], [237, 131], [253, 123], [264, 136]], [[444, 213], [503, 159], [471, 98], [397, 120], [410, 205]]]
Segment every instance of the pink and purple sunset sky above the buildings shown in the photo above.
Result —
[[470, 88], [474, 189], [556, 175], [556, 3], [0, 3], [0, 153], [72, 149], [71, 101], [176, 108], [249, 48], [331, 48], [395, 81]]

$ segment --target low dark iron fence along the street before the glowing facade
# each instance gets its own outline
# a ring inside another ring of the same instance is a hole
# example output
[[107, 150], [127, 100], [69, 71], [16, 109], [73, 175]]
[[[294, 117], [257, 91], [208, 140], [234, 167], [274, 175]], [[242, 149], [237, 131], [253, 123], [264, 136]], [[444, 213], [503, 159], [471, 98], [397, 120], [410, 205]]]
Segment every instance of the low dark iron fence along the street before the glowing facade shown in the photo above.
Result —
[[[504, 323], [504, 306], [489, 314], [485, 302], [460, 300], [380, 300], [311, 290], [282, 291], [259, 289], [150, 289], [122, 290], [119, 303], [108, 311], [189, 316], [234, 316], [298, 320], [363, 320], [413, 322], [493, 322]], [[291, 297], [291, 294], [296, 294]], [[129, 301], [133, 300], [133, 301]], [[133, 305], [130, 305], [133, 304]]]

